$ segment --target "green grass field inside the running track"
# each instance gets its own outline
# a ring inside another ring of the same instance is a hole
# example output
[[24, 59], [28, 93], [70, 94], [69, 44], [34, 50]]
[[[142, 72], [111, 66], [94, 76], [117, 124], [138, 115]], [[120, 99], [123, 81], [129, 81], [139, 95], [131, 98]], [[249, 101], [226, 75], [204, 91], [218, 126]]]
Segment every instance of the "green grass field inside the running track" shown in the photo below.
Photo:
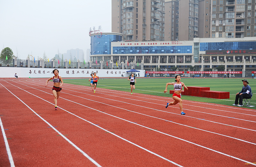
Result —
[[[211, 91], [229, 91], [229, 99], [211, 99], [203, 97], [194, 97], [194, 96], [185, 96], [182, 95], [181, 99], [208, 102], [215, 104], [224, 104], [232, 105], [235, 102], [236, 93], [242, 90], [244, 78], [188, 78], [182, 77], [181, 82], [184, 82], [186, 86], [202, 86], [210, 87]], [[249, 85], [252, 88], [252, 93], [255, 93], [252, 97], [251, 104], [256, 106], [256, 79], [246, 78], [249, 82]], [[63, 79], [64, 84], [76, 84], [83, 86], [90, 86], [90, 82], [87, 79]], [[164, 94], [165, 85], [167, 82], [175, 82], [175, 78], [136, 78], [135, 90], [133, 93], [143, 93], [149, 95], [163, 96], [163, 97], [172, 97], [169, 93]], [[131, 91], [130, 81], [127, 78], [103, 78], [98, 81], [97, 88], [112, 89], [118, 91]], [[168, 86], [168, 91], [173, 90], [173, 86]], [[182, 89], [184, 90], [184, 88]], [[246, 106], [243, 106], [246, 107]], [[256, 109], [256, 107], [250, 107]]]

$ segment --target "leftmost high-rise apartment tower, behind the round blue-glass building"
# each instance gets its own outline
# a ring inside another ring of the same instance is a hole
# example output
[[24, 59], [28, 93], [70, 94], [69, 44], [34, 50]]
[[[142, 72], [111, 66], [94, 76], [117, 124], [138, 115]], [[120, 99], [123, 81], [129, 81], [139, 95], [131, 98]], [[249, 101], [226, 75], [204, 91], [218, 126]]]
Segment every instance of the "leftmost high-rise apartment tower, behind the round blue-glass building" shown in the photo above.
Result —
[[126, 41], [164, 41], [164, 0], [112, 0], [112, 32]]

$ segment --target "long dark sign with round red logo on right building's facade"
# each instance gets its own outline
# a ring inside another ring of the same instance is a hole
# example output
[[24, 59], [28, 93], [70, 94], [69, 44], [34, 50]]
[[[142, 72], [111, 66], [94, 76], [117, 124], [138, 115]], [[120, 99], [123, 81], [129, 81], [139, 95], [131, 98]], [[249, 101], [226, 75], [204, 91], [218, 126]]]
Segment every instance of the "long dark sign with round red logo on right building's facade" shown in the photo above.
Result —
[[205, 51], [205, 54], [256, 54], [255, 49], [246, 50], [219, 50], [219, 51]]

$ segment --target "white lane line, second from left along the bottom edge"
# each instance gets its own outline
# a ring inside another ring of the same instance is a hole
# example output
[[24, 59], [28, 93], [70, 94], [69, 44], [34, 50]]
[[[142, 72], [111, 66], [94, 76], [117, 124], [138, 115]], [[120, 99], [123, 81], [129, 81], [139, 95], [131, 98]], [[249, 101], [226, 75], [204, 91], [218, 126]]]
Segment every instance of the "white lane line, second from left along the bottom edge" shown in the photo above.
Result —
[[[1, 83], [0, 83], [1, 84]], [[2, 84], [1, 84], [2, 85]], [[2, 85], [4, 87], [4, 85]], [[13, 85], [14, 86], [14, 85]], [[7, 91], [9, 91], [6, 87], [4, 87]], [[19, 88], [19, 87], [18, 87]], [[22, 89], [21, 89], [22, 90]], [[12, 93], [11, 91], [9, 91]], [[16, 95], [12, 93], [13, 96], [15, 96], [17, 99], [19, 99]], [[92, 163], [94, 163], [96, 166], [101, 167], [99, 163], [94, 161], [89, 155], [87, 155], [83, 150], [81, 150], [79, 147], [77, 147], [73, 142], [71, 142], [68, 138], [66, 138], [62, 133], [60, 133], [57, 129], [55, 129], [50, 123], [48, 123], [44, 118], [42, 118], [40, 115], [38, 115], [32, 108], [30, 108], [26, 103], [24, 103], [21, 99], [19, 99], [25, 106], [27, 106], [31, 111], [33, 111], [39, 118], [41, 118], [45, 123], [47, 123], [54, 131], [56, 131], [61, 137], [63, 137], [65, 140], [68, 141], [73, 147], [75, 147], [79, 152], [81, 152], [86, 158], [88, 158]]]

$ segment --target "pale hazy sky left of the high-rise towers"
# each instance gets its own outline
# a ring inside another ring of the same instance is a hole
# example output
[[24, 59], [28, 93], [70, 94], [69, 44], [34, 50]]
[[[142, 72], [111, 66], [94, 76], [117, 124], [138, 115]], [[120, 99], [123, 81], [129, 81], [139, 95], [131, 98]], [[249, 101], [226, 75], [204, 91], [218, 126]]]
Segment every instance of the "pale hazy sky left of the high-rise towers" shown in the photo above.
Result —
[[70, 49], [90, 49], [89, 28], [111, 32], [111, 0], [0, 0], [0, 51], [19, 59], [51, 59]]

